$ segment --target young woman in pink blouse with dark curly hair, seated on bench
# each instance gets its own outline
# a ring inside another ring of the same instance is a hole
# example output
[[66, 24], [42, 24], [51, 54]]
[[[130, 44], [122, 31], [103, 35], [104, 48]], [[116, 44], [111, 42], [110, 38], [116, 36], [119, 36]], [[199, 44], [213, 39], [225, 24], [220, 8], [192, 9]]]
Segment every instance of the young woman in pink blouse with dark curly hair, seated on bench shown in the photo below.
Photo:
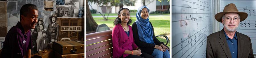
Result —
[[113, 58], [154, 58], [141, 52], [141, 49], [134, 43], [133, 31], [129, 24], [131, 24], [130, 10], [119, 9], [112, 31]]

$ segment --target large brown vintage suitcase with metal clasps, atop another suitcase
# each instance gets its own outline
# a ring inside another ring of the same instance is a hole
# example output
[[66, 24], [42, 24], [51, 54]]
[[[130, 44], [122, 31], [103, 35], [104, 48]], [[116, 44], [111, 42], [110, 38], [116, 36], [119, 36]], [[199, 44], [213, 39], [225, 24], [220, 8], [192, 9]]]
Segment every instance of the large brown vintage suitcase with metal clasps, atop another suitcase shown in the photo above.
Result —
[[59, 54], [84, 53], [84, 44], [76, 41], [58, 41], [52, 45], [54, 51]]

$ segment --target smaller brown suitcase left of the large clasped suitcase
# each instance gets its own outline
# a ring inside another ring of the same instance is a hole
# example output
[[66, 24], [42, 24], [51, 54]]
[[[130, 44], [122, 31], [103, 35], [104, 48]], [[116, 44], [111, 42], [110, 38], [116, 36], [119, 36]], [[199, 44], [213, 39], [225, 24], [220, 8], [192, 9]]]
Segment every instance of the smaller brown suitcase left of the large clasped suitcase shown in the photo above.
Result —
[[53, 58], [54, 52], [52, 49], [45, 49], [36, 54], [34, 54], [34, 58]]

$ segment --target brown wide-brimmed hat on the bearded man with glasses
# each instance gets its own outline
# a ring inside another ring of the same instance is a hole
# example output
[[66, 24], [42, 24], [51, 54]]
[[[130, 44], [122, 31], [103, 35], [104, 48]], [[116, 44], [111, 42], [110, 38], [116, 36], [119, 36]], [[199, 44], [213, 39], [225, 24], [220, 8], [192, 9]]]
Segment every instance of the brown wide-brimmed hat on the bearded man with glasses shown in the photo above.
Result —
[[248, 16], [248, 14], [245, 13], [245, 12], [238, 12], [238, 10], [237, 10], [237, 8], [236, 8], [236, 5], [233, 4], [233, 3], [230, 3], [230, 4], [228, 4], [228, 5], [225, 6], [225, 8], [223, 9], [223, 12], [220, 12], [220, 13], [215, 14], [214, 17], [215, 17], [215, 19], [216, 19], [217, 21], [219, 21], [220, 23], [222, 23], [222, 22], [221, 22], [222, 16], [223, 16], [224, 14], [228, 14], [228, 13], [237, 13], [237, 14], [239, 14], [239, 16], [240, 16], [240, 22], [243, 21], [243, 20], [245, 20], [245, 19], [247, 18], [247, 16]]

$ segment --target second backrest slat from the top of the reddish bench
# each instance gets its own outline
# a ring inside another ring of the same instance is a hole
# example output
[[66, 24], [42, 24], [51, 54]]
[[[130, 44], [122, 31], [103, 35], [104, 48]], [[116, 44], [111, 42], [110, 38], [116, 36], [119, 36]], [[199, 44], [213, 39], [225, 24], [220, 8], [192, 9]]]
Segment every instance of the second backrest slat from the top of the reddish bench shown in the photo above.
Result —
[[87, 40], [86, 45], [98, 43], [98, 42], [105, 41], [108, 39], [112, 39], [112, 35], [108, 35], [108, 36], [104, 36], [104, 37], [100, 37], [100, 38], [96, 38], [96, 39], [92, 39], [92, 40]]

